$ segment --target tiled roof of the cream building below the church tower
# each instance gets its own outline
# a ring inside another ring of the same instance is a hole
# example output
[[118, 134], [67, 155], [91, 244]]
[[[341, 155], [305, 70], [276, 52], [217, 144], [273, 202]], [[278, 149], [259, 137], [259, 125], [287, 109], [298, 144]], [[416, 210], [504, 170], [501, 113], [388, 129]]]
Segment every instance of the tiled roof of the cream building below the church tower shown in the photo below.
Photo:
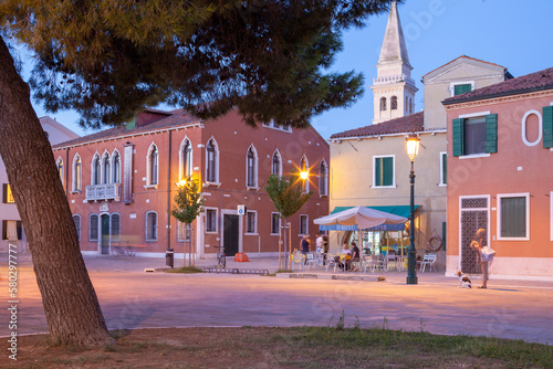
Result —
[[379, 135], [394, 135], [404, 133], [422, 131], [424, 114], [422, 112], [415, 113], [401, 118], [386, 120], [383, 123], [374, 124], [366, 127], [349, 129], [340, 134], [331, 136], [333, 138], [347, 138], [347, 137], [364, 137], [364, 136], [379, 136]]

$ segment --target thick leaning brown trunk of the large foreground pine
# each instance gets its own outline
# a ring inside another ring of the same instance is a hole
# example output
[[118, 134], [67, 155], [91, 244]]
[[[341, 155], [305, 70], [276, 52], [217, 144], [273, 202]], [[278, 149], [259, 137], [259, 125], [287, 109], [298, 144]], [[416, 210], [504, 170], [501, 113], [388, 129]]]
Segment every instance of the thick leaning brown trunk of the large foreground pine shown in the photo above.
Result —
[[52, 148], [2, 38], [0, 65], [0, 155], [29, 240], [50, 334], [55, 342], [111, 344]]

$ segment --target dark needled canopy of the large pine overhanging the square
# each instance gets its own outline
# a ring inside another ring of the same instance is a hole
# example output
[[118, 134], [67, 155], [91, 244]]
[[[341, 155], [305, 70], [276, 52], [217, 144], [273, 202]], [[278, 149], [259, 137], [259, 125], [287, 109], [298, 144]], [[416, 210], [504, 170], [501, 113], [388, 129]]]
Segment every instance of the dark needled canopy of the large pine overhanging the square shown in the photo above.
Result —
[[35, 54], [34, 98], [84, 127], [168, 103], [208, 119], [305, 127], [345, 107], [363, 76], [332, 73], [341, 32], [390, 0], [3, 0], [0, 30]]

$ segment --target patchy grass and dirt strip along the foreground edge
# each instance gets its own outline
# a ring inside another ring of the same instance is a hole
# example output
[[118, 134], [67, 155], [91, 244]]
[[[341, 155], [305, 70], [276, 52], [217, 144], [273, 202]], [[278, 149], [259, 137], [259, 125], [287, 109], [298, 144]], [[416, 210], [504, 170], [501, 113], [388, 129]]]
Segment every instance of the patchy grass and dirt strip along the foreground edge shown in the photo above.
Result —
[[[2, 368], [552, 368], [553, 347], [383, 328], [167, 328], [115, 331], [117, 345], [52, 346], [18, 339]], [[11, 361], [11, 360], [10, 360]]]

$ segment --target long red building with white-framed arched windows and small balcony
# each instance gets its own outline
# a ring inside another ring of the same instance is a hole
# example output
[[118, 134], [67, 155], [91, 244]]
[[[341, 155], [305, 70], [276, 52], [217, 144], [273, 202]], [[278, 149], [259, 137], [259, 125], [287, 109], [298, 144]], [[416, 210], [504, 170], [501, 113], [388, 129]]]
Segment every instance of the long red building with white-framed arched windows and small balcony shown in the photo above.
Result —
[[[205, 122], [180, 109], [148, 109], [132, 124], [56, 145], [53, 152], [65, 162], [63, 184], [83, 252], [105, 254], [129, 241], [143, 245], [139, 254], [174, 249], [182, 255], [184, 226], [169, 214], [187, 175], [200, 179], [206, 199], [192, 223], [198, 257], [213, 256], [220, 244], [227, 255], [278, 252], [280, 221], [263, 190], [271, 173], [310, 171], [305, 186], [314, 194], [290, 219], [292, 246], [304, 233], [314, 239], [313, 219], [328, 213], [328, 144], [313, 128], [251, 128], [237, 113]], [[238, 205], [247, 207], [244, 215]]]

